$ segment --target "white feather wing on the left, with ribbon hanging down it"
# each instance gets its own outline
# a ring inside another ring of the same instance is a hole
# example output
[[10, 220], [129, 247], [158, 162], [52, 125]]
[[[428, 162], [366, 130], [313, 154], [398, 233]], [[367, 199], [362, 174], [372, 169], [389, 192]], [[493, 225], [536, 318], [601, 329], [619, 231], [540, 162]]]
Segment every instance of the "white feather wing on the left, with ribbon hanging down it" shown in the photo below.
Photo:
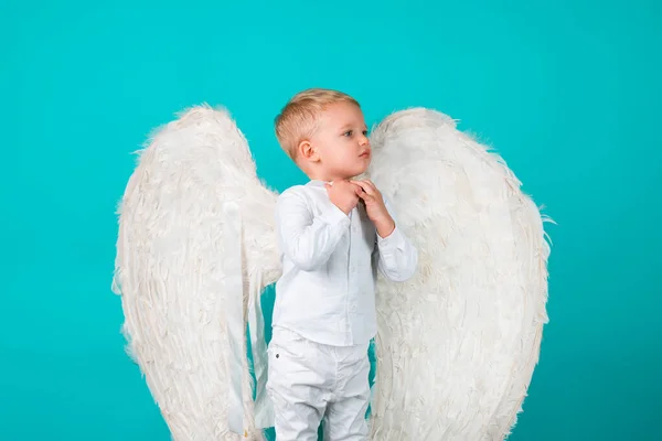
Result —
[[[260, 292], [279, 276], [276, 197], [257, 179], [227, 112], [206, 106], [160, 129], [130, 178], [119, 211], [115, 289], [129, 351], [175, 440], [242, 439], [227, 422], [228, 369], [237, 354], [228, 353], [224, 309], [237, 301], [232, 295], [241, 295], [245, 309], [246, 291]], [[239, 208], [238, 238], [226, 233], [226, 203]], [[228, 249], [228, 240], [243, 244], [241, 252]], [[237, 293], [228, 288], [224, 259], [239, 254], [244, 290]], [[246, 354], [243, 330], [235, 349]], [[243, 426], [248, 439], [260, 439], [246, 398], [246, 357], [242, 364]]]

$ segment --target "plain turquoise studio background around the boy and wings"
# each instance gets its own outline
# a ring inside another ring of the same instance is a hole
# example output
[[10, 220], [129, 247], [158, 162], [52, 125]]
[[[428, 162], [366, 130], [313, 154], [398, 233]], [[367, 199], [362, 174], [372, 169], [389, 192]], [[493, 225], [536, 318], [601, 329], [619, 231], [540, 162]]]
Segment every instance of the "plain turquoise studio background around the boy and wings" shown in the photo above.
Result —
[[310, 86], [370, 122], [437, 108], [559, 224], [551, 323], [511, 440], [661, 439], [662, 7], [653, 1], [0, 4], [0, 440], [168, 440], [124, 353], [115, 207], [148, 132], [225, 105], [277, 190]]

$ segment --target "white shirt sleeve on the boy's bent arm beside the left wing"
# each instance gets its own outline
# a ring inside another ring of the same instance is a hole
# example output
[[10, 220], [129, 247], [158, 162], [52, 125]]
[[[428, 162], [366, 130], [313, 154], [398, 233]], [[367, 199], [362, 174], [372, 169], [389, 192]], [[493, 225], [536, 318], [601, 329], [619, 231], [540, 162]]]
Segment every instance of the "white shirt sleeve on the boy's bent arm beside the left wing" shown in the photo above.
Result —
[[331, 203], [316, 216], [298, 191], [288, 190], [278, 196], [276, 230], [280, 249], [303, 271], [324, 265], [349, 227], [349, 216]]

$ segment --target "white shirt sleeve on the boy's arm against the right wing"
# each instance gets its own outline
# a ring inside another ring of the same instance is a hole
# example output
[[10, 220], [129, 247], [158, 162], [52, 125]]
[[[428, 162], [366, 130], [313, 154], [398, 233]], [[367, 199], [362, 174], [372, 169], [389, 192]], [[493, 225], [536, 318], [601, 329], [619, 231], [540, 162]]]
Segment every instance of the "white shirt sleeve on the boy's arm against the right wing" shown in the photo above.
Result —
[[386, 237], [377, 234], [377, 268], [384, 277], [404, 282], [412, 278], [418, 266], [418, 250], [397, 226], [395, 213], [387, 201], [386, 209], [395, 220], [395, 229]]

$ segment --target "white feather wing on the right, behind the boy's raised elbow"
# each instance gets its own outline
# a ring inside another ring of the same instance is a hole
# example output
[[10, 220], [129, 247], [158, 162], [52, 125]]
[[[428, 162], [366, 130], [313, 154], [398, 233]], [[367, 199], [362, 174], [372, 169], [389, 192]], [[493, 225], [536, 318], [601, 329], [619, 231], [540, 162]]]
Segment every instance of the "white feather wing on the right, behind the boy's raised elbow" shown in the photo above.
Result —
[[372, 143], [370, 176], [419, 250], [415, 278], [378, 281], [372, 439], [502, 440], [547, 321], [543, 218], [442, 114], [396, 112]]

